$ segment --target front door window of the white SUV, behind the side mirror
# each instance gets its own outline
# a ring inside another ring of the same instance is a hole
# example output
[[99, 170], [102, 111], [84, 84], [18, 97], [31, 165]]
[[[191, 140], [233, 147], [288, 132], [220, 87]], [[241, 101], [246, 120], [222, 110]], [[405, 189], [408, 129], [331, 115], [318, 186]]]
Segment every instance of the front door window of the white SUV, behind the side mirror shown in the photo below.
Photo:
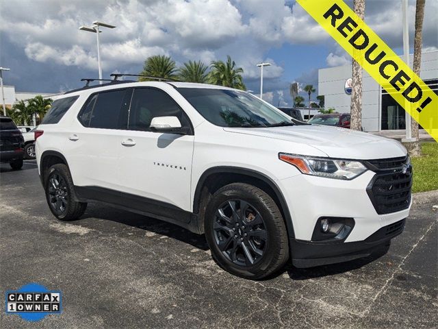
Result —
[[167, 93], [153, 88], [134, 90], [129, 110], [129, 130], [150, 131], [155, 117], [177, 117], [181, 127], [190, 127], [187, 115]]

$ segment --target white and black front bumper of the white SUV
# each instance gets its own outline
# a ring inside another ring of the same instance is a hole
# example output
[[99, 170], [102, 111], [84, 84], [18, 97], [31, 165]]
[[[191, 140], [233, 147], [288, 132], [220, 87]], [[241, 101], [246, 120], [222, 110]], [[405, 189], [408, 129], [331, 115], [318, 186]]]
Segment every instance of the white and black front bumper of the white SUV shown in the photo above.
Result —
[[[397, 212], [379, 215], [367, 193], [375, 175], [369, 170], [354, 180], [296, 175], [276, 181], [287, 200], [292, 218], [294, 236], [289, 236], [289, 246], [292, 263], [296, 267], [366, 257], [387, 249], [391, 239], [402, 232], [411, 205]], [[355, 226], [343, 241], [312, 241], [313, 230], [321, 217], [351, 218]], [[383, 234], [394, 225], [401, 229]]]

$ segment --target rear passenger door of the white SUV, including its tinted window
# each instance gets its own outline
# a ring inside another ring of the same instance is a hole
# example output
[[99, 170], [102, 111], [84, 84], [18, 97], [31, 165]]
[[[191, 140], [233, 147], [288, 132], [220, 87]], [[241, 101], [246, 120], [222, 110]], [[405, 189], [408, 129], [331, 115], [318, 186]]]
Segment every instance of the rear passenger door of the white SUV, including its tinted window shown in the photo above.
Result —
[[131, 93], [131, 88], [105, 90], [83, 105], [65, 145], [76, 186], [120, 188], [118, 160]]

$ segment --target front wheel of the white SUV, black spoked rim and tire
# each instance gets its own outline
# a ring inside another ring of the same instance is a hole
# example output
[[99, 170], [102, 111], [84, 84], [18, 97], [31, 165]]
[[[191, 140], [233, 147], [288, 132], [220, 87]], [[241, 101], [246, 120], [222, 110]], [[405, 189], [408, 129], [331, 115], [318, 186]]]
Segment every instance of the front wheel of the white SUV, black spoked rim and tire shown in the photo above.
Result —
[[287, 231], [278, 206], [250, 184], [233, 183], [214, 193], [205, 212], [205, 236], [216, 263], [242, 278], [271, 276], [289, 259]]

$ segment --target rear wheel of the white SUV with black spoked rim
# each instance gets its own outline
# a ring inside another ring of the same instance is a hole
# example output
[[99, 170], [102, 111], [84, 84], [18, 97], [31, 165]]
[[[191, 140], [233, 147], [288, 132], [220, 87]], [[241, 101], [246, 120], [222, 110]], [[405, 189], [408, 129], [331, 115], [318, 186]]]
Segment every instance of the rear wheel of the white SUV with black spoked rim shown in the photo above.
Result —
[[53, 164], [49, 168], [44, 191], [50, 211], [61, 221], [78, 219], [87, 208], [86, 202], [75, 201], [73, 180], [65, 164]]

